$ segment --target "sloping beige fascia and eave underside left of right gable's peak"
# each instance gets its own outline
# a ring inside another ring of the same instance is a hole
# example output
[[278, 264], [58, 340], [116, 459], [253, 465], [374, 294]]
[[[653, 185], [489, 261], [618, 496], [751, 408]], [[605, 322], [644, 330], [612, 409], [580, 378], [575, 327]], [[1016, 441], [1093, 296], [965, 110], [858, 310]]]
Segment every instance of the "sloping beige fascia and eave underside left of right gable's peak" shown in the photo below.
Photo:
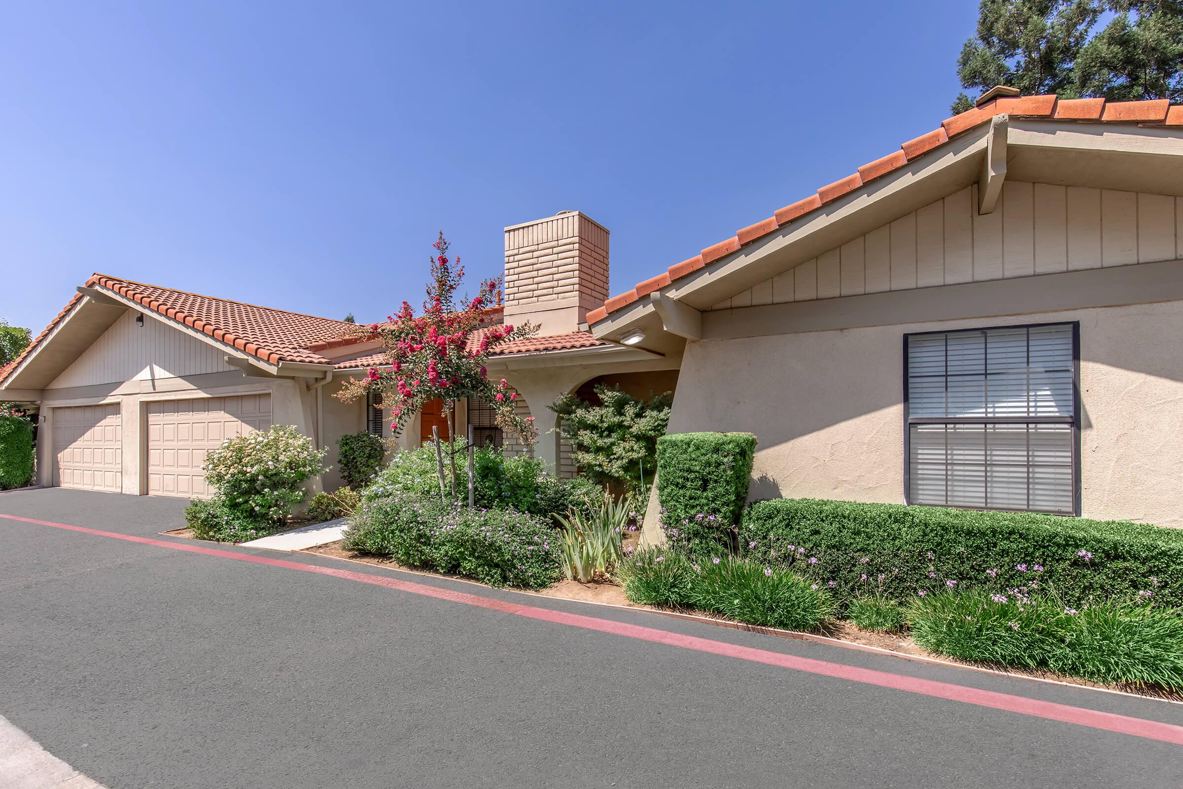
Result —
[[[985, 124], [958, 136], [931, 154], [679, 278], [660, 292], [687, 306], [706, 310], [851, 238], [951, 194], [977, 180], [989, 128]], [[597, 338], [619, 337], [652, 312], [651, 302], [638, 299], [593, 325], [592, 334]]]

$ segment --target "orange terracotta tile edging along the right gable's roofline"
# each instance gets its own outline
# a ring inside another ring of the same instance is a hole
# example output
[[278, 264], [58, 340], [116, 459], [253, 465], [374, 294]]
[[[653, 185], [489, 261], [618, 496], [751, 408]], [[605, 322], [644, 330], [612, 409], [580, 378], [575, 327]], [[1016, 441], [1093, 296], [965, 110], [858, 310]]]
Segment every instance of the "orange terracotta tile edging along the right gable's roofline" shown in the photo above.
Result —
[[887, 175], [930, 150], [945, 144], [950, 138], [985, 123], [995, 115], [1002, 114], [1030, 118], [1138, 123], [1140, 125], [1183, 128], [1183, 105], [1176, 104], [1172, 106], [1165, 98], [1142, 102], [1106, 102], [1104, 98], [1059, 101], [1055, 95], [1002, 96], [985, 102], [982, 106], [975, 106], [961, 115], [942, 121], [939, 128], [923, 134], [914, 140], [909, 140], [900, 145], [899, 150], [864, 164], [855, 173], [828, 186], [823, 186], [816, 193], [776, 211], [772, 216], [736, 231], [736, 234], [731, 238], [706, 247], [693, 258], [670, 266], [664, 273], [638, 284], [632, 290], [613, 296], [603, 303], [603, 306], [588, 312], [587, 322], [590, 324], [603, 321], [610, 312], [628, 306], [649, 292], [738, 251], [742, 246], [775, 232], [784, 225], [800, 219], [812, 211], [821, 208], [827, 202], [836, 200], [874, 179]]

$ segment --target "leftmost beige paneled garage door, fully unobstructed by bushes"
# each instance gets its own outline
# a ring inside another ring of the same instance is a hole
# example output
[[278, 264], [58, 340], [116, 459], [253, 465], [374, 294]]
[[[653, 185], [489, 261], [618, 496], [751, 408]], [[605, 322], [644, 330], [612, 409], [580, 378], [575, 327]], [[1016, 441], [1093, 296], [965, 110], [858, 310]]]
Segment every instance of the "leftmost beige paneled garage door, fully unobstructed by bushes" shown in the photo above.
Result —
[[123, 489], [119, 403], [53, 409], [54, 478], [62, 487]]

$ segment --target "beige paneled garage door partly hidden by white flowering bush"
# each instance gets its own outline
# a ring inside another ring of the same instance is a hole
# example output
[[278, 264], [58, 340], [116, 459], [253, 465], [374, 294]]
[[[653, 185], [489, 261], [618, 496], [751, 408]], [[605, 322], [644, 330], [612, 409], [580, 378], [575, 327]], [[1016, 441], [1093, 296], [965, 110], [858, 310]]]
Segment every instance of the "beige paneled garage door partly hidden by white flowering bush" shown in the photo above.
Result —
[[148, 494], [208, 498], [206, 452], [270, 426], [270, 394], [148, 403]]

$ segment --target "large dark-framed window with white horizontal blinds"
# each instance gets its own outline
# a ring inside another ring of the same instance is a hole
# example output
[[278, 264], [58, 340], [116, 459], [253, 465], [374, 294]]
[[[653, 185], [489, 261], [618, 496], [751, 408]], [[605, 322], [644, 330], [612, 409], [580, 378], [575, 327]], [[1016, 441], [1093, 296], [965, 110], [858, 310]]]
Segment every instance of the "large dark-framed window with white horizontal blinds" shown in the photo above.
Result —
[[1077, 515], [1075, 323], [905, 335], [909, 504]]

